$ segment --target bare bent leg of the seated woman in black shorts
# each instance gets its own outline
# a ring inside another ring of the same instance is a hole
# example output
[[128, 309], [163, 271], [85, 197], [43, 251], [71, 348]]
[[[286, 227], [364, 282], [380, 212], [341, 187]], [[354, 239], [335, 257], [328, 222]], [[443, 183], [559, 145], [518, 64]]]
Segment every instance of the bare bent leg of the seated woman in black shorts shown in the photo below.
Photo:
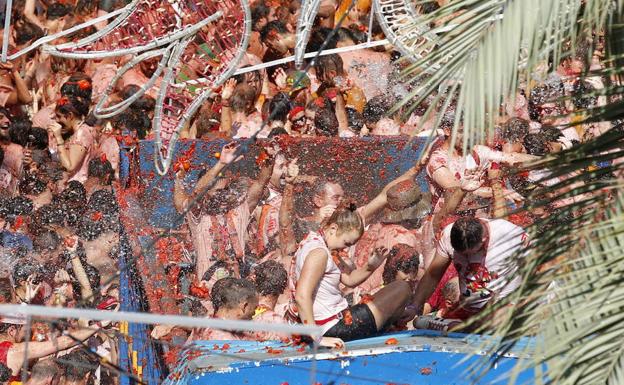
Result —
[[377, 330], [388, 320], [402, 314], [405, 304], [412, 294], [412, 289], [406, 281], [394, 281], [375, 294], [375, 298], [366, 305], [375, 316]]

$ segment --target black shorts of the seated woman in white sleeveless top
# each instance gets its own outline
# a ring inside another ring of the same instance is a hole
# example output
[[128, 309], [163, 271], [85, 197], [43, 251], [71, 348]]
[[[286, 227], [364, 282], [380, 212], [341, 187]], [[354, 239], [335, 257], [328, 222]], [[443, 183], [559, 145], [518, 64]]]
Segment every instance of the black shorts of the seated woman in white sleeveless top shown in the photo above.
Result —
[[377, 334], [375, 316], [367, 305], [357, 304], [342, 311], [342, 319], [331, 327], [325, 337], [343, 341], [359, 340]]

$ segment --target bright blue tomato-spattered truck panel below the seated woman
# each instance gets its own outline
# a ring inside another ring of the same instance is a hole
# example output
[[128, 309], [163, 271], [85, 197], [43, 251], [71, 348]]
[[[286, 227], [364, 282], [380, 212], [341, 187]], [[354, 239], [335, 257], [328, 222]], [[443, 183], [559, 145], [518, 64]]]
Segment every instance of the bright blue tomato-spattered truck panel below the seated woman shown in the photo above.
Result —
[[[459, 333], [403, 332], [349, 342], [345, 353], [320, 350], [316, 361], [309, 348], [301, 351], [278, 342], [199, 341], [165, 385], [506, 384], [520, 360], [530, 363], [531, 340], [520, 341], [487, 372], [471, 370], [492, 358], [478, 353], [491, 341]], [[517, 383], [536, 383], [538, 375], [525, 369]]]

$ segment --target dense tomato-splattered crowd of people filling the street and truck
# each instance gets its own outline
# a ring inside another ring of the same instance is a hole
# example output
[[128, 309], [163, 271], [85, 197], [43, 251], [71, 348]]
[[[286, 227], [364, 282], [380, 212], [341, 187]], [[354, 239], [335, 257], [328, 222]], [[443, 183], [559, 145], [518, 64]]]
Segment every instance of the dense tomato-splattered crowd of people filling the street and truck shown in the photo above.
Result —
[[[308, 51], [364, 43], [368, 34], [383, 38], [379, 25], [369, 23], [370, 2], [349, 4], [321, 2]], [[123, 5], [16, 1], [9, 50]], [[252, 35], [241, 68], [293, 54], [300, 8], [298, 1], [251, 3]], [[342, 347], [388, 330], [447, 328], [446, 320], [461, 325], [505, 298], [519, 284], [513, 256], [528, 246], [525, 229], [570, 203], [560, 199], [544, 210], [518, 211], [548, 170], [508, 170], [612, 129], [610, 123], [561, 128], [579, 116], [575, 112], [605, 103], [604, 97], [579, 96], [604, 87], [600, 78], [579, 79], [584, 70], [600, 67], [602, 48], [594, 43], [581, 42], [574, 56], [544, 63], [544, 71], [501, 106], [487, 143], [468, 149], [461, 127], [451, 135], [454, 102], [442, 116], [425, 115], [434, 98], [411, 114], [389, 113], [413, 87], [400, 82], [405, 62], [390, 45], [319, 56], [307, 71], [287, 63], [233, 76], [181, 133], [182, 139], [228, 140], [216, 164], [192, 183], [184, 162], [172, 167], [173, 205], [185, 218], [180, 233], [188, 236], [182, 241], [191, 245], [192, 268], [178, 271], [176, 288], [185, 287], [189, 305], [181, 311], [316, 324], [324, 331], [320, 345]], [[96, 119], [93, 108], [130, 59], [60, 59], [33, 50], [0, 63], [3, 303], [119, 308], [121, 225], [114, 189], [124, 187], [120, 151], [152, 138], [155, 89], [110, 119]], [[110, 103], [135, 94], [157, 60], [128, 71]], [[285, 136], [353, 143], [346, 138], [435, 139], [406, 173], [358, 206], [336, 175], [300, 172], [298, 159], [278, 144]], [[245, 138], [261, 139], [263, 147], [255, 179], [222, 172], [241, 155], [235, 139]], [[427, 189], [418, 175], [425, 176]], [[302, 196], [308, 212], [296, 209]], [[25, 328], [26, 321], [19, 314], [0, 320], [0, 383], [118, 381], [103, 364], [118, 358], [115, 325], [41, 320]], [[287, 336], [156, 326], [152, 337], [183, 344]]]

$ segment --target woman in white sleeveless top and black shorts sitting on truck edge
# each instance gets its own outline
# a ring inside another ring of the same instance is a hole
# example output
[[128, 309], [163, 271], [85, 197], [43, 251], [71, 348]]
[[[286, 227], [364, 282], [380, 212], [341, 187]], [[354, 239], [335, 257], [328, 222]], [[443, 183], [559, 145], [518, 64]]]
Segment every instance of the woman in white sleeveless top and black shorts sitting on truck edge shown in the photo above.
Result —
[[291, 271], [291, 312], [304, 324], [323, 327], [321, 346], [342, 347], [343, 341], [366, 338], [382, 331], [389, 321], [401, 316], [411, 290], [405, 281], [396, 281], [377, 292], [366, 304], [349, 307], [340, 284], [356, 287], [364, 282], [388, 257], [388, 250], [378, 249], [364, 267], [341, 272], [331, 256], [355, 244], [364, 226], [356, 206], [338, 208], [321, 225], [310, 232], [295, 252]]

